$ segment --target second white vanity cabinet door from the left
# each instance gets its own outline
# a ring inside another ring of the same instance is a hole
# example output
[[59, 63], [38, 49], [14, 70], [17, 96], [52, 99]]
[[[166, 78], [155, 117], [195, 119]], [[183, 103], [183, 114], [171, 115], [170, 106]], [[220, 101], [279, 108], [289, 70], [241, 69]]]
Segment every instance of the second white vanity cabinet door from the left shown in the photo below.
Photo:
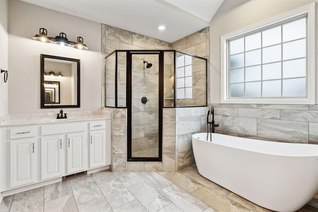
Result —
[[63, 175], [64, 136], [41, 138], [41, 179]]

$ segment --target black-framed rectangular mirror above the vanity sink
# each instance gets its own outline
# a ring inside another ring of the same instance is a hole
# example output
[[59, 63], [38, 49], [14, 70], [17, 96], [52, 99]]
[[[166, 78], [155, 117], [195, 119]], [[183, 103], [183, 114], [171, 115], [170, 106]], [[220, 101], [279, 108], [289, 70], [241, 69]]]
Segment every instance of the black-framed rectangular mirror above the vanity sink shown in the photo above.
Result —
[[41, 108], [80, 107], [80, 60], [41, 54]]

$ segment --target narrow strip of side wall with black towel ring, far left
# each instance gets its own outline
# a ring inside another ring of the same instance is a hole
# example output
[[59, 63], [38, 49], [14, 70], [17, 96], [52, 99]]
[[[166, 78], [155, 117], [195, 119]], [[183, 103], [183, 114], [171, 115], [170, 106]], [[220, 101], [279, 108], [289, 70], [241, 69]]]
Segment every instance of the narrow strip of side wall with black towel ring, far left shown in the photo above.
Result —
[[[8, 1], [0, 1], [0, 69], [8, 70]], [[8, 72], [10, 75], [10, 72]], [[8, 113], [8, 81], [4, 83], [0, 74], [0, 117]]]

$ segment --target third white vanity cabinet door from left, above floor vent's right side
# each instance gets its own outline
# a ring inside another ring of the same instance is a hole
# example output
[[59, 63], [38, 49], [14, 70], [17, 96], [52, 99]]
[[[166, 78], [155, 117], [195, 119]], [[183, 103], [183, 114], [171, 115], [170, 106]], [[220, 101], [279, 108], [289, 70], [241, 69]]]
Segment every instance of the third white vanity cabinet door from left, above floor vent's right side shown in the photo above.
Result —
[[[86, 137], [87, 138], [87, 137]], [[84, 133], [72, 133], [67, 136], [67, 172], [74, 173], [86, 169], [87, 145]], [[87, 142], [87, 141], [86, 141]]]

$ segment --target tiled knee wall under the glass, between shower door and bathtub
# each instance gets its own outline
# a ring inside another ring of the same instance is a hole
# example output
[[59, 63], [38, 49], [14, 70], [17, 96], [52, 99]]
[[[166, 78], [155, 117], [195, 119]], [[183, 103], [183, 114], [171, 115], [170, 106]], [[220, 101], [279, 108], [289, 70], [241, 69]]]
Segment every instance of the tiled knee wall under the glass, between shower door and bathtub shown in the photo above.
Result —
[[207, 107], [163, 109], [163, 171], [194, 164], [191, 136], [206, 132]]

